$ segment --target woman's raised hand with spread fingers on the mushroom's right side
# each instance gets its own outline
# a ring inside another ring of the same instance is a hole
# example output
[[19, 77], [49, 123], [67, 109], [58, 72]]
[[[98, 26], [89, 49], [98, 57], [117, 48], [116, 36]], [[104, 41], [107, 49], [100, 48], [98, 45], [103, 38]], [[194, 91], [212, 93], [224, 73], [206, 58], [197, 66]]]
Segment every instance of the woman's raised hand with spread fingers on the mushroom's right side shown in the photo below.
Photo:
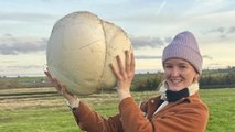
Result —
[[117, 91], [120, 101], [130, 97], [130, 86], [135, 76], [135, 57], [133, 53], [125, 51], [125, 64], [121, 62], [120, 56], [116, 57], [118, 67], [110, 64], [111, 70], [117, 78]]

